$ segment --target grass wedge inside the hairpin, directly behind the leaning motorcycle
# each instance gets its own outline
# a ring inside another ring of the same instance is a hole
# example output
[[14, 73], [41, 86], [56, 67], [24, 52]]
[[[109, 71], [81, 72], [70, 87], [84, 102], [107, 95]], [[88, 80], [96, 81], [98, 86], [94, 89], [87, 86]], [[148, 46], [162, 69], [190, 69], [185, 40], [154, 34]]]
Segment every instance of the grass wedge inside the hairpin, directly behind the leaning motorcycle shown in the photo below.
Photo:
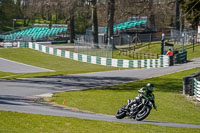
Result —
[[55, 94], [51, 100], [58, 104], [66, 100], [66, 105], [70, 107], [115, 115], [126, 104], [127, 99], [137, 96], [137, 90], [151, 82], [156, 88], [158, 111], [152, 110], [148, 120], [200, 124], [200, 104], [195, 105], [182, 95], [182, 78], [199, 70], [200, 68], [196, 68], [102, 89], [61, 92]]

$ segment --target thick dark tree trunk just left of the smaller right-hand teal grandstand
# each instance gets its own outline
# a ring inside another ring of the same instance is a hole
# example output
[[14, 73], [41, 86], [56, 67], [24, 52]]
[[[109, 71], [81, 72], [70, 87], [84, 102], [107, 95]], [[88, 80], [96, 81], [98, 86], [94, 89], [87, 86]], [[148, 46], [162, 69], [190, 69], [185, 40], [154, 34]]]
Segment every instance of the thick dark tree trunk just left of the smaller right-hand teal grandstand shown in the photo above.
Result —
[[[115, 15], [115, 0], [108, 0], [108, 43], [111, 43], [111, 38], [113, 37], [113, 25], [114, 25], [114, 15]], [[113, 44], [113, 48], [115, 45]]]

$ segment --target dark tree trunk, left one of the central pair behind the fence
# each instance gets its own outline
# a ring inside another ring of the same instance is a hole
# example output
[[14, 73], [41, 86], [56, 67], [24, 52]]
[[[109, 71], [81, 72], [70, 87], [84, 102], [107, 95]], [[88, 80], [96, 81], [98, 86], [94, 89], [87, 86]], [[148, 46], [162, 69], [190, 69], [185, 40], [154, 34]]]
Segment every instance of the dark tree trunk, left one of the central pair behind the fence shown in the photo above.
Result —
[[98, 44], [98, 16], [97, 16], [97, 1], [92, 0], [92, 21], [93, 21], [93, 36], [94, 40], [93, 42]]

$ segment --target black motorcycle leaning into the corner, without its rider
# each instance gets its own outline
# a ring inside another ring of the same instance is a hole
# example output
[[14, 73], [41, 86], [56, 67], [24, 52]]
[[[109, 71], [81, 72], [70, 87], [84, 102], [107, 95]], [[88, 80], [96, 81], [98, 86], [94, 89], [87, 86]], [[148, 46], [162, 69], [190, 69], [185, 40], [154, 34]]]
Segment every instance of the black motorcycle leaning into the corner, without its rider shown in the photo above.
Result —
[[142, 121], [150, 114], [152, 108], [156, 109], [156, 106], [153, 104], [154, 101], [150, 99], [136, 99], [137, 102], [129, 99], [127, 105], [122, 106], [117, 111], [116, 118], [123, 119], [128, 116], [131, 119]]

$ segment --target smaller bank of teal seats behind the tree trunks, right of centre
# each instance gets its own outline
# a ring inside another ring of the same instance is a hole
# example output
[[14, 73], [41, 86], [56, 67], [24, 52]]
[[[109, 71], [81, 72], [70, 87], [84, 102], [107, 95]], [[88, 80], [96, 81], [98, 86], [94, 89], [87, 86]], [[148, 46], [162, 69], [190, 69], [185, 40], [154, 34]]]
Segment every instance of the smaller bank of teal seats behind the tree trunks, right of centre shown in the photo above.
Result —
[[[120, 30], [126, 30], [126, 29], [131, 29], [131, 28], [136, 28], [142, 25], [145, 25], [147, 23], [146, 20], [141, 20], [141, 21], [128, 21], [120, 24], [115, 24], [113, 26], [114, 32], [120, 31]], [[104, 27], [104, 31], [107, 32], [107, 27]]]

